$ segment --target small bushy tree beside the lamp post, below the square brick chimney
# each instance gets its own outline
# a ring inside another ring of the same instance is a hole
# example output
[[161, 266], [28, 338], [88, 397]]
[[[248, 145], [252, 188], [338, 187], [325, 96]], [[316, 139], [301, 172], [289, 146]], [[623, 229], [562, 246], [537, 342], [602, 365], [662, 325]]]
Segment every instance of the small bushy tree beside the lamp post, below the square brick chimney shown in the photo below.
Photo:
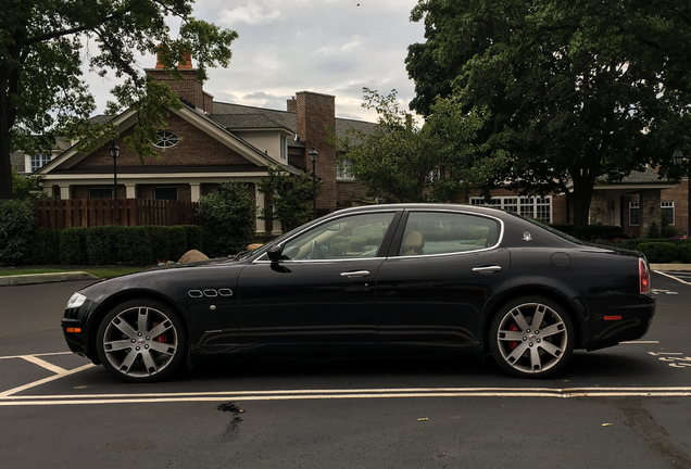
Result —
[[[279, 167], [268, 166], [268, 177], [259, 183], [266, 194], [266, 206], [261, 208], [263, 219], [278, 220], [284, 232], [298, 228], [312, 219], [312, 174], [301, 172], [292, 176]], [[316, 193], [322, 182], [316, 181]]]

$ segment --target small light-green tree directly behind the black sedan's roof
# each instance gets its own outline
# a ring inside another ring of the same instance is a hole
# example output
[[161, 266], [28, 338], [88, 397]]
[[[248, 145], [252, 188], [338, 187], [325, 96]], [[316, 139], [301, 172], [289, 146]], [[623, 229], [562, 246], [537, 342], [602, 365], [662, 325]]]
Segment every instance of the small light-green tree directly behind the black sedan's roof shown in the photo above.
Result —
[[[449, 144], [449, 128], [416, 124], [412, 114], [399, 109], [395, 90], [388, 96], [363, 91], [363, 106], [377, 111], [378, 126], [369, 134], [351, 129], [337, 147], [344, 151], [342, 159], [352, 162], [353, 176], [367, 188], [368, 197], [385, 202], [444, 202], [472, 180], [461, 165], [465, 152]], [[474, 114], [456, 122], [452, 131], [467, 140], [480, 121]]]

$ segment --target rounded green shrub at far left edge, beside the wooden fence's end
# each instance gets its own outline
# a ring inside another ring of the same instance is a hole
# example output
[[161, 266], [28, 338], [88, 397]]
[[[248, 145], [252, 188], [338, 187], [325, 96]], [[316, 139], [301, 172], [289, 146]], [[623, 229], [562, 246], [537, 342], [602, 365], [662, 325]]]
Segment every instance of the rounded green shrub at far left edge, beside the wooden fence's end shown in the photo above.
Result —
[[35, 226], [30, 201], [0, 200], [0, 266], [32, 259]]

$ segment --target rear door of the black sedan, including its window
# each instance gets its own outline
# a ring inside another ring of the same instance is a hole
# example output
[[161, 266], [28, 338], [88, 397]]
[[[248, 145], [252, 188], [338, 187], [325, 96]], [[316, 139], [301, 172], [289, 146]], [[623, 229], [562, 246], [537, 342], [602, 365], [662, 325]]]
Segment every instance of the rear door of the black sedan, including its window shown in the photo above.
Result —
[[415, 210], [377, 276], [381, 342], [478, 342], [480, 313], [510, 268], [501, 220]]

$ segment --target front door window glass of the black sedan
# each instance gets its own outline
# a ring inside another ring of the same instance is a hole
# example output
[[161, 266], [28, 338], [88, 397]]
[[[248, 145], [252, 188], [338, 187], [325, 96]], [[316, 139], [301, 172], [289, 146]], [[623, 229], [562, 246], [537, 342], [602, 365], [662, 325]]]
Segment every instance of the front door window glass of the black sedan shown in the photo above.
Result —
[[348, 259], [376, 257], [393, 212], [351, 215], [312, 228], [286, 243], [284, 258]]

